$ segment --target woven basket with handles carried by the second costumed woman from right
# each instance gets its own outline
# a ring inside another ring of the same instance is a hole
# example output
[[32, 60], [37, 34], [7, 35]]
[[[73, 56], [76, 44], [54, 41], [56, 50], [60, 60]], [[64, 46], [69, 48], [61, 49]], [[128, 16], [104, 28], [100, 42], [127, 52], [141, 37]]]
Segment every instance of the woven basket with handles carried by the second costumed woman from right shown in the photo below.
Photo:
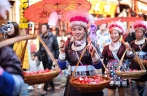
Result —
[[121, 72], [120, 71], [120, 68], [121, 68], [121, 65], [122, 65], [122, 62], [123, 62], [123, 59], [124, 59], [124, 56], [126, 54], [126, 50], [119, 62], [119, 66], [116, 70], [116, 74], [120, 77], [122, 77], [123, 79], [139, 79], [142, 75], [146, 74], [146, 69], [142, 63], [142, 61], [140, 60], [140, 58], [138, 57], [138, 55], [136, 54], [136, 52], [134, 51], [134, 49], [132, 49], [135, 57], [134, 57], [134, 60], [137, 62], [137, 64], [140, 65], [140, 68], [141, 70], [137, 70], [137, 71], [125, 71], [125, 72]]

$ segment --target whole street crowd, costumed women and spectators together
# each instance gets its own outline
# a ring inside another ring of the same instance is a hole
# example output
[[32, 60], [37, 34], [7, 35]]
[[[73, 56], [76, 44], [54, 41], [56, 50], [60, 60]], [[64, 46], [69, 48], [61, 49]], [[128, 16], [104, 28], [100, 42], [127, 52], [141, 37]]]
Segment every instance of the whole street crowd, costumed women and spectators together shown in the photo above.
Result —
[[[41, 26], [40, 37], [58, 61], [60, 69], [65, 70], [67, 65], [70, 65], [64, 96], [104, 96], [103, 90], [83, 92], [70, 83], [71, 75], [85, 48], [86, 52], [80, 60], [80, 67], [77, 67], [75, 77], [95, 76], [97, 75], [95, 69], [102, 69], [102, 74], [105, 75], [106, 70], [102, 64], [104, 63], [111, 78], [110, 84], [106, 86], [108, 96], [115, 96], [116, 89], [118, 89], [119, 96], [125, 96], [125, 88], [128, 87], [130, 81], [118, 76], [116, 69], [125, 50], [121, 71], [140, 70], [139, 64], [133, 61], [132, 49], [141, 60], [147, 60], [147, 22], [135, 21], [130, 29], [126, 29], [122, 22], [115, 21], [109, 25], [100, 25], [98, 30], [98, 26], [90, 22], [88, 15], [88, 12], [80, 11], [80, 14], [77, 14], [74, 11], [69, 20], [71, 32], [67, 33], [67, 41], [58, 42], [57, 37], [52, 33], [51, 26], [48, 24]], [[90, 27], [88, 27], [89, 24]], [[8, 32], [7, 39], [18, 36], [20, 36], [19, 26], [16, 22], [11, 22], [11, 31]], [[44, 69], [52, 69], [53, 61], [44, 46], [39, 43], [39, 50], [35, 48], [29, 53], [27, 44], [28, 40], [24, 40], [0, 49], [0, 96], [19, 96], [25, 85], [23, 71], [39, 70], [40, 62]], [[29, 60], [29, 55], [31, 60]], [[146, 66], [145, 68], [147, 69]], [[147, 73], [139, 79], [132, 80], [136, 82], [138, 95], [146, 96]], [[42, 95], [47, 94], [49, 85], [51, 90], [55, 90], [53, 81], [44, 83]], [[36, 89], [36, 86], [33, 87]]]

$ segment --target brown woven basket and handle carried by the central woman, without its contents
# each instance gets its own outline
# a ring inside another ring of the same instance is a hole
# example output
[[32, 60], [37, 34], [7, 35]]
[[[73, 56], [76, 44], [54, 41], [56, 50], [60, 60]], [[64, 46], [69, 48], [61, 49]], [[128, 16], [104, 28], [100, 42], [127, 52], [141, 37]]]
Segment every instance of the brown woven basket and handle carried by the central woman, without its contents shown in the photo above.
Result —
[[[104, 79], [104, 82], [101, 82], [99, 84], [81, 84], [81, 83], [74, 82], [74, 80], [78, 79], [78, 78], [74, 78], [74, 76], [75, 76], [76, 69], [77, 69], [77, 67], [80, 63], [80, 60], [82, 59], [85, 51], [86, 51], [86, 48], [83, 50], [83, 52], [78, 60], [78, 63], [74, 69], [74, 72], [72, 73], [70, 83], [72, 86], [76, 87], [79, 91], [83, 91], [83, 92], [96, 92], [96, 91], [103, 90], [111, 81], [109, 77], [100, 76], [101, 78]], [[104, 68], [106, 68], [104, 64], [103, 64], [103, 66], [104, 66]], [[85, 77], [85, 76], [81, 76], [81, 77]], [[86, 76], [86, 77], [90, 78], [91, 76]]]

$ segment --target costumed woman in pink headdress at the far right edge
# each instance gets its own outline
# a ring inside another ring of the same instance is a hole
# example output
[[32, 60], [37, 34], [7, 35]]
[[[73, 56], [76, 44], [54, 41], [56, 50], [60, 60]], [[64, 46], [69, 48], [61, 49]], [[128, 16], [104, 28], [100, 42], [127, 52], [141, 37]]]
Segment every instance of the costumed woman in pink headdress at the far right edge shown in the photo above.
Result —
[[[147, 60], [147, 40], [145, 38], [145, 32], [147, 30], [146, 21], [136, 21], [134, 23], [136, 40], [130, 43], [130, 46], [135, 50], [140, 59]], [[147, 69], [147, 67], [145, 67]], [[140, 70], [140, 66], [136, 62], [130, 64], [130, 69]], [[140, 79], [135, 79], [138, 95], [146, 96], [145, 82], [147, 81], [147, 74], [141, 76]]]

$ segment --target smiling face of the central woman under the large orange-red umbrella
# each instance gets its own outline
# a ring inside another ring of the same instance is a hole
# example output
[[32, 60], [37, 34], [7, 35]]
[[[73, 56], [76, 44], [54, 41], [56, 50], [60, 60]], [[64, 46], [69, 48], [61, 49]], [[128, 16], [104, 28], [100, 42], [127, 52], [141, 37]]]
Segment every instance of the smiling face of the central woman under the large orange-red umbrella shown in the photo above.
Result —
[[84, 38], [85, 35], [85, 30], [84, 27], [76, 25], [72, 27], [72, 34], [73, 34], [73, 38], [77, 41], [80, 41]]

